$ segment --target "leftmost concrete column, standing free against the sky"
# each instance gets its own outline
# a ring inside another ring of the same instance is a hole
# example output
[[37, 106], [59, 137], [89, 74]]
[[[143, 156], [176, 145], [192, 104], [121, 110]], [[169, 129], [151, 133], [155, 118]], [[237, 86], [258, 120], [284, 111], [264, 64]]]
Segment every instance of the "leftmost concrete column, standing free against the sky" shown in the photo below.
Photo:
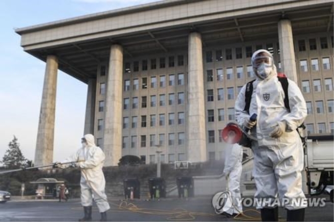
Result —
[[35, 166], [53, 163], [56, 86], [58, 59], [55, 55], [48, 55], [46, 60], [41, 110], [35, 150]]

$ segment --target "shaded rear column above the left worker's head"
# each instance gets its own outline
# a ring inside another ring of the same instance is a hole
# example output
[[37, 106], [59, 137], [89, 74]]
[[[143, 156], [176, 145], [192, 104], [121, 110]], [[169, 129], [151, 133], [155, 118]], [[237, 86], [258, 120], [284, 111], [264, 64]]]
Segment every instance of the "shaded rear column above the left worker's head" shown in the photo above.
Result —
[[86, 114], [83, 134], [94, 134], [96, 79], [88, 80]]

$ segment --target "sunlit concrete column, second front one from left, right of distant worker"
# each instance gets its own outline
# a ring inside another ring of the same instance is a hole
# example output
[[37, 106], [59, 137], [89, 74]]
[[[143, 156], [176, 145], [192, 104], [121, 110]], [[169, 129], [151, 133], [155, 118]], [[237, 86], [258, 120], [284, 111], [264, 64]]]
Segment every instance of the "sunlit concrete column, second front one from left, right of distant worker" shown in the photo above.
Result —
[[117, 166], [122, 156], [122, 83], [123, 49], [120, 45], [112, 45], [105, 100], [103, 145], [106, 155], [105, 166]]

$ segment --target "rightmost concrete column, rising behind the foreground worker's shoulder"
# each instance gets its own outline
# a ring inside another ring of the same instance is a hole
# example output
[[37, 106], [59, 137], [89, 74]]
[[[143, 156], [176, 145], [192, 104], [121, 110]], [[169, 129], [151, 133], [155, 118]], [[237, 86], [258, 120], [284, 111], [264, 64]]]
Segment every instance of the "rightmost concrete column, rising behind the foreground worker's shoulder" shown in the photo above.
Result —
[[293, 48], [293, 36], [290, 20], [283, 19], [278, 22], [278, 40], [282, 72], [290, 80], [297, 83], [296, 58]]

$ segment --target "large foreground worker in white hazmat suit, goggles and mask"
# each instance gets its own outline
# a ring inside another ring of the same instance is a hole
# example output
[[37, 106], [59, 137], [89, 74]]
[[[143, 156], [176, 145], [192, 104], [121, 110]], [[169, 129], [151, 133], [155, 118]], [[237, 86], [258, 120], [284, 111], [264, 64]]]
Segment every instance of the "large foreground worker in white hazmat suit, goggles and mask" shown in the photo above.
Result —
[[[255, 199], [271, 202], [262, 201], [257, 209], [261, 209], [262, 221], [278, 221], [278, 207], [274, 204], [278, 196], [278, 200], [284, 199], [280, 203], [287, 209], [287, 221], [304, 221], [306, 202], [303, 201], [301, 173], [304, 153], [296, 129], [306, 118], [306, 102], [298, 85], [291, 80], [287, 80], [288, 95], [285, 95], [273, 56], [268, 51], [254, 52], [251, 63], [256, 80], [252, 82], [252, 91], [247, 84], [241, 89], [235, 102], [235, 114], [237, 123], [250, 129], [251, 135], [259, 139], [251, 143]], [[251, 91], [249, 109], [245, 106], [247, 90]], [[287, 104], [284, 104], [285, 97]], [[257, 114], [254, 122], [250, 120], [253, 113]], [[302, 201], [296, 204], [293, 199]]]

